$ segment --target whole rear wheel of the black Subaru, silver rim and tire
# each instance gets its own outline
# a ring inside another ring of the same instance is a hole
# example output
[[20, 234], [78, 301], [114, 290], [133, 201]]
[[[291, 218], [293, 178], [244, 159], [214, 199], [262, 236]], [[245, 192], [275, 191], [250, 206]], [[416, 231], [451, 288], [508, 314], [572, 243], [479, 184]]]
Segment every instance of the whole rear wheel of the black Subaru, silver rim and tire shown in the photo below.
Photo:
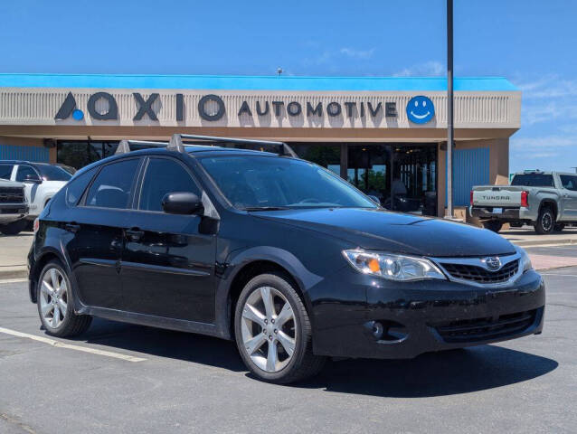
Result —
[[70, 278], [59, 261], [46, 264], [36, 290], [38, 314], [48, 335], [75, 336], [88, 329], [92, 317], [74, 313]]

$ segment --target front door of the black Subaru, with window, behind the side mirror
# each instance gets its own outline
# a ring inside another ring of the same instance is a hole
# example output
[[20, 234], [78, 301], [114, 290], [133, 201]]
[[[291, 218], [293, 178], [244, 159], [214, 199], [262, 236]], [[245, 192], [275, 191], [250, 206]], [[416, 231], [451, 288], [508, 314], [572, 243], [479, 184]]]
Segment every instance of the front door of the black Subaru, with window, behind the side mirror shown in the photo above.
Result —
[[163, 212], [163, 197], [175, 192], [201, 197], [182, 162], [167, 156], [148, 158], [125, 231], [120, 272], [125, 309], [211, 324], [216, 235], [202, 233], [202, 216]]

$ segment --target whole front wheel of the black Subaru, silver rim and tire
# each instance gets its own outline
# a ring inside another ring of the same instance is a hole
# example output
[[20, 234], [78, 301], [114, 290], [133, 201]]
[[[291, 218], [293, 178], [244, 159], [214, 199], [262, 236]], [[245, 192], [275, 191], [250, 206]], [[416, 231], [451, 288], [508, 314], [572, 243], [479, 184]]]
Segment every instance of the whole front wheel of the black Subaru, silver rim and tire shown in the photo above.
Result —
[[242, 361], [260, 380], [297, 382], [318, 373], [325, 357], [312, 352], [310, 321], [282, 274], [262, 274], [242, 289], [234, 316]]

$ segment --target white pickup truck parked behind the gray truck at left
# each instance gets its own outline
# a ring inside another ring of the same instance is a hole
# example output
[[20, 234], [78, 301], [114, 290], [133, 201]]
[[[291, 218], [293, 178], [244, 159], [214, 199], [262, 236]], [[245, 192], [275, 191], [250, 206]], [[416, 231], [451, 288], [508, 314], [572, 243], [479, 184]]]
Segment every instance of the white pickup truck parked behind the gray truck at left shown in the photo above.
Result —
[[0, 160], [0, 179], [16, 181], [25, 186], [29, 221], [38, 217], [52, 196], [68, 183], [72, 174], [73, 169], [61, 165]]

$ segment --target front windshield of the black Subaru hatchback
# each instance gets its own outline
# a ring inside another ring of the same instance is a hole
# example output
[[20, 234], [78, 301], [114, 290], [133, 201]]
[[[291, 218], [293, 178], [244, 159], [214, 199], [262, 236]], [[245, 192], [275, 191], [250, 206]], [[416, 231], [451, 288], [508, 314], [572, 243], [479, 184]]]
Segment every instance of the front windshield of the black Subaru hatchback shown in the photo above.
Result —
[[364, 194], [326, 169], [279, 156], [200, 158], [230, 203], [243, 210], [376, 208]]

